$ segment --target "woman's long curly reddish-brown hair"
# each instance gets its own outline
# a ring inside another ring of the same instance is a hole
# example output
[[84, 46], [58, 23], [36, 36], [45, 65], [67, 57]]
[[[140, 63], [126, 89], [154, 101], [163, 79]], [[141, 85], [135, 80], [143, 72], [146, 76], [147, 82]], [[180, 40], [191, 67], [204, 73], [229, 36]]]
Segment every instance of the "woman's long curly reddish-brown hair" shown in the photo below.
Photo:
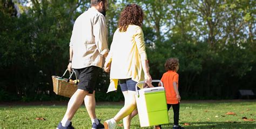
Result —
[[129, 25], [143, 25], [143, 10], [137, 4], [128, 4], [120, 14], [118, 28], [120, 32], [125, 32]]

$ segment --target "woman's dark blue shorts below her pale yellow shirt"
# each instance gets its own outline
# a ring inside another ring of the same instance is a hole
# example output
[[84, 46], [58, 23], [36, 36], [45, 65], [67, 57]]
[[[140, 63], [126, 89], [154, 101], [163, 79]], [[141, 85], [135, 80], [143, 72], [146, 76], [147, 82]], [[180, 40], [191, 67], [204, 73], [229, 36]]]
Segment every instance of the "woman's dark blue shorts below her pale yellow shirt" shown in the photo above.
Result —
[[135, 82], [131, 78], [118, 79], [118, 82], [119, 82], [119, 85], [120, 85], [122, 91], [135, 91], [135, 86], [136, 86], [137, 82]]

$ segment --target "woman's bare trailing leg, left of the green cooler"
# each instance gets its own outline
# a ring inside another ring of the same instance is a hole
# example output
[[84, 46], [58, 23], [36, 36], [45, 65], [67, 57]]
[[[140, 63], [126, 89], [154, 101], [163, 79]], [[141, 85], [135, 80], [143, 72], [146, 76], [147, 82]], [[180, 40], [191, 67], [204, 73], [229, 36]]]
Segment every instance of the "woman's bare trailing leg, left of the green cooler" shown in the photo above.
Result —
[[122, 120], [126, 116], [129, 116], [132, 111], [137, 107], [135, 100], [135, 91], [128, 91], [127, 97], [125, 98], [125, 103], [126, 104], [124, 105], [124, 107], [116, 114], [116, 116], [114, 116], [114, 120], [116, 120], [116, 122]]

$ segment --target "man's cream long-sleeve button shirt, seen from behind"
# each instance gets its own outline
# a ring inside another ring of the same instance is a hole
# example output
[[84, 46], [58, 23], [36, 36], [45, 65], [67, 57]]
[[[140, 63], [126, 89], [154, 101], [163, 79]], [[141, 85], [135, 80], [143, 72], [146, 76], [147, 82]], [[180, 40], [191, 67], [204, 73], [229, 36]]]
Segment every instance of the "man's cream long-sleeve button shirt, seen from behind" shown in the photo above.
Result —
[[107, 47], [107, 25], [105, 17], [95, 8], [82, 13], [73, 26], [70, 47], [73, 49], [72, 68], [103, 66], [103, 55]]

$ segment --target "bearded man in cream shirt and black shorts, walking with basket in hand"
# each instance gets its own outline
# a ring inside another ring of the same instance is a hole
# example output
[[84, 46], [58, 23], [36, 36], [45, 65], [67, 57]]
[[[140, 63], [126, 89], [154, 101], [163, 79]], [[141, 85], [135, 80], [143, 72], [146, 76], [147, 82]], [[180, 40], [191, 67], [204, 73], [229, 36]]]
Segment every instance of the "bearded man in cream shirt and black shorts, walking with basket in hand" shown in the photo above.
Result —
[[109, 52], [105, 22], [107, 4], [107, 0], [91, 0], [91, 8], [82, 13], [73, 26], [68, 70], [76, 71], [78, 90], [70, 98], [65, 116], [57, 128], [73, 128], [71, 119], [83, 101], [92, 120], [92, 128], [104, 128], [96, 117], [94, 94], [103, 58]]

